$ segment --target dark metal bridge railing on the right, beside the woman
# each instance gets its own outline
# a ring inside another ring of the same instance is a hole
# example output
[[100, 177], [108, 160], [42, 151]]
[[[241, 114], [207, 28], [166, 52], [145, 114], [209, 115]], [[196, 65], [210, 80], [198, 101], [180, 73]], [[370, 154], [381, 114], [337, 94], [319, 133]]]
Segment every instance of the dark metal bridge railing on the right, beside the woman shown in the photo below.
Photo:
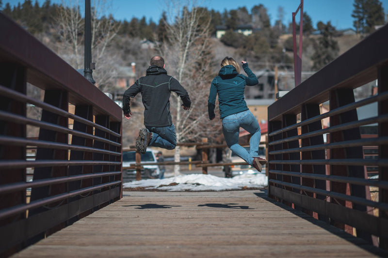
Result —
[[[384, 249], [388, 249], [387, 46], [388, 25], [269, 106], [267, 168], [270, 197]], [[377, 87], [370, 89], [369, 97], [355, 98], [355, 92], [371, 84]], [[372, 93], [373, 89], [377, 91]], [[325, 106], [328, 112], [322, 111]], [[375, 155], [371, 158], [365, 150], [374, 150]], [[378, 175], [370, 177], [368, 167]]]

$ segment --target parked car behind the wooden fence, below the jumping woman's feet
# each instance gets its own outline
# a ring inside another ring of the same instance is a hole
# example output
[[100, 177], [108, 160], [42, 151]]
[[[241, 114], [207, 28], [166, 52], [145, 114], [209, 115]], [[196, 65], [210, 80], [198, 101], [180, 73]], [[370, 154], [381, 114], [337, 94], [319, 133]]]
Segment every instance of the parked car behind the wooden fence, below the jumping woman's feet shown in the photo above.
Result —
[[[249, 152], [249, 147], [244, 147]], [[259, 145], [259, 156], [265, 158], [265, 145]], [[228, 150], [226, 163], [241, 163], [245, 162], [242, 158], [236, 155], [236, 153]], [[261, 169], [261, 173], [265, 173], [265, 165]], [[225, 177], [234, 177], [243, 174], [258, 174], [260, 173], [256, 168], [245, 164], [245, 165], [232, 165], [224, 167]]]

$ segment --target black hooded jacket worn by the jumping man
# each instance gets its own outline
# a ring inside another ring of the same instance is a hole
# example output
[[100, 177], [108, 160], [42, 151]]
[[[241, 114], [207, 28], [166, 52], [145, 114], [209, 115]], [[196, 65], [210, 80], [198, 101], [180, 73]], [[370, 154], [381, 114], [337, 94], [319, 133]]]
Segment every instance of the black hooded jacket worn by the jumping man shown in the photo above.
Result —
[[144, 125], [154, 127], [170, 126], [170, 95], [174, 91], [180, 96], [183, 106], [190, 107], [191, 101], [187, 91], [177, 79], [167, 75], [164, 68], [151, 65], [146, 71], [146, 76], [139, 78], [130, 86], [123, 95], [124, 114], [130, 112], [130, 98], [137, 93], [142, 94], [144, 110]]

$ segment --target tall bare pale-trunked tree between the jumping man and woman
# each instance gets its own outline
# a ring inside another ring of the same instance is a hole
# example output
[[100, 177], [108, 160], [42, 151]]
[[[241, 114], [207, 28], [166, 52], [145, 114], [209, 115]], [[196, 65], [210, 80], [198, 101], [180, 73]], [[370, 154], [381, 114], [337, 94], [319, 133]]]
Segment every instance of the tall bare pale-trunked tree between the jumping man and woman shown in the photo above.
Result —
[[[212, 62], [210, 44], [210, 17], [203, 22], [207, 12], [199, 8], [194, 0], [166, 1], [168, 42], [160, 46], [161, 55], [166, 60], [166, 69], [189, 91], [192, 106], [189, 111], [181, 107], [180, 98], [172, 98], [172, 112], [178, 142], [198, 141], [209, 135], [207, 99], [211, 82]], [[212, 128], [214, 132], [214, 127]], [[174, 160], [180, 160], [179, 146], [175, 149]], [[179, 166], [174, 167], [175, 175]]]

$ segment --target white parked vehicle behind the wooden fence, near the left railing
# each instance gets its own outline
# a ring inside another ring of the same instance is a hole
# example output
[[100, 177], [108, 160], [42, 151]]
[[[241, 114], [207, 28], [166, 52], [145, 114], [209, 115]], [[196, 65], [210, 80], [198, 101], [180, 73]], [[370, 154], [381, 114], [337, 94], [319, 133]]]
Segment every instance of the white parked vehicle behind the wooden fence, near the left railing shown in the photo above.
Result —
[[[147, 150], [145, 154], [141, 154], [141, 163], [155, 163], [155, 165], [144, 165], [142, 178], [159, 178], [160, 169], [156, 165], [157, 159], [155, 151]], [[136, 164], [136, 152], [123, 152], [123, 167], [130, 167]], [[123, 168], [123, 182], [129, 182], [136, 178], [136, 170], [133, 168]]]

